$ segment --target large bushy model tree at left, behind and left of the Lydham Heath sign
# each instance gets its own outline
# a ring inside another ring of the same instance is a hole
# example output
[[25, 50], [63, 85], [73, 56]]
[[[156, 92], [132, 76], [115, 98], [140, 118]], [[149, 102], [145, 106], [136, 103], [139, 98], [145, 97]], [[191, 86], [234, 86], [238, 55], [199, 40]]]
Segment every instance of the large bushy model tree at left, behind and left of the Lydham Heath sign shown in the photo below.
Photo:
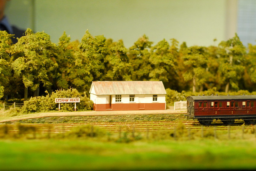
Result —
[[18, 39], [12, 54], [17, 58], [12, 63], [12, 68], [17, 75], [22, 77], [25, 85], [24, 100], [28, 97], [28, 87], [39, 92], [39, 85], [50, 87], [50, 72], [58, 67], [49, 54], [56, 51], [56, 45], [50, 41], [50, 36], [44, 32], [33, 33], [27, 29], [25, 36]]

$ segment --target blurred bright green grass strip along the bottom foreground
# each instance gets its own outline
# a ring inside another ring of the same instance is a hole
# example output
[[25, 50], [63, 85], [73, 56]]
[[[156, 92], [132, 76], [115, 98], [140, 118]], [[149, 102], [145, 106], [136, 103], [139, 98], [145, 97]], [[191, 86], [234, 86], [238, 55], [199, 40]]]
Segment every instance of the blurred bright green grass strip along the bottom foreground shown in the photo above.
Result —
[[1, 170], [255, 169], [256, 141], [0, 140]]

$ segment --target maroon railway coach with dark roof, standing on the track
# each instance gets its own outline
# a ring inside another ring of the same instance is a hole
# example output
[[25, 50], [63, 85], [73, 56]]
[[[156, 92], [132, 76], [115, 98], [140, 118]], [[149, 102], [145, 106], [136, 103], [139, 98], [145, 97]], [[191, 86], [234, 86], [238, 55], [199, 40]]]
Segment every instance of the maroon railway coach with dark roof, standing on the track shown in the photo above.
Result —
[[210, 125], [213, 119], [220, 119], [224, 124], [233, 124], [235, 119], [254, 124], [256, 95], [188, 96], [187, 116], [203, 125]]

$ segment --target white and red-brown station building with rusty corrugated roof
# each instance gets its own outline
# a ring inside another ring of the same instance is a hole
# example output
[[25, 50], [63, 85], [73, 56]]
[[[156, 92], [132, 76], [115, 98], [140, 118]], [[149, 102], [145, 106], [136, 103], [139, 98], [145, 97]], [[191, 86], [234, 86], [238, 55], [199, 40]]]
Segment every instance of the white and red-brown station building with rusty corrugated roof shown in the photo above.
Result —
[[93, 81], [93, 110], [163, 110], [166, 91], [162, 81]]

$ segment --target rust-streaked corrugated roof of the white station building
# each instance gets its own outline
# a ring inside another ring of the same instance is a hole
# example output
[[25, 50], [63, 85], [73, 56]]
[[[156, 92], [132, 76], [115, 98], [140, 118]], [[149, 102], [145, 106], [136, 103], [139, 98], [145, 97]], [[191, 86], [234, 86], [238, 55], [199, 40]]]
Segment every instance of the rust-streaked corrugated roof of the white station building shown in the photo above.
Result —
[[162, 81], [93, 81], [96, 95], [166, 94]]

